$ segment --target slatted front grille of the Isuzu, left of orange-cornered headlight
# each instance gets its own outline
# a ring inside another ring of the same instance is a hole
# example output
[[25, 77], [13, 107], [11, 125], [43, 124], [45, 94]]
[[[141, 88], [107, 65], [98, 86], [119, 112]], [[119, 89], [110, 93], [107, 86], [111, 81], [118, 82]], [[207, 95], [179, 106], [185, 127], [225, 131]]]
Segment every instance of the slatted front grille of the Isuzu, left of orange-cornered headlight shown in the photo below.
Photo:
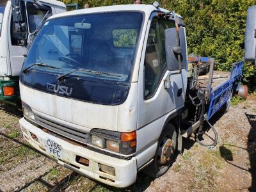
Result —
[[45, 117], [35, 115], [36, 123], [50, 131], [56, 132], [62, 136], [70, 138], [71, 140], [79, 141], [80, 143], [88, 143], [89, 134], [85, 131], [77, 129], [75, 127], [67, 127], [67, 125], [61, 125], [60, 123], [53, 122]]

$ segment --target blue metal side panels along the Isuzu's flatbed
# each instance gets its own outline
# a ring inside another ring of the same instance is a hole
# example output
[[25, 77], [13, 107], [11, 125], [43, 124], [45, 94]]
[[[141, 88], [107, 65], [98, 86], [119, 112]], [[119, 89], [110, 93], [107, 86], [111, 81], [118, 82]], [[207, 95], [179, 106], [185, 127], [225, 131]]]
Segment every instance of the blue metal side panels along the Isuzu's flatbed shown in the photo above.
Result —
[[241, 76], [243, 74], [243, 64], [244, 61], [240, 61], [238, 63], [233, 63], [231, 68], [230, 79], [228, 79], [225, 83], [221, 84], [209, 95], [209, 109], [207, 112], [207, 120], [214, 115], [230, 98], [230, 94], [232, 93], [232, 89], [235, 81], [240, 81]]

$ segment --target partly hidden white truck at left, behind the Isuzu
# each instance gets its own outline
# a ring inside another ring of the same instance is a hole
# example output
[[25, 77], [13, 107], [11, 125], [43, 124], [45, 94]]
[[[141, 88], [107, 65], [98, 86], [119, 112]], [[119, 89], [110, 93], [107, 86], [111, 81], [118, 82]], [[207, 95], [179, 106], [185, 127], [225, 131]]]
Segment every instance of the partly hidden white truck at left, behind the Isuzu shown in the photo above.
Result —
[[65, 12], [60, 1], [0, 1], [0, 102], [20, 102], [19, 76], [24, 54], [40, 24]]

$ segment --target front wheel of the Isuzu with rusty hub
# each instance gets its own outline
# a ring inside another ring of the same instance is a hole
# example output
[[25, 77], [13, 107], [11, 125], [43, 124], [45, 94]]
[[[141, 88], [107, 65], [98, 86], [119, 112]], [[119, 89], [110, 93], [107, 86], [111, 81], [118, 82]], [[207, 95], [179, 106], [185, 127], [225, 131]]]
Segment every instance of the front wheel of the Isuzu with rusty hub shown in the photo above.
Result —
[[[168, 143], [171, 142], [171, 145], [168, 147]], [[166, 148], [167, 147], [167, 148]], [[164, 149], [166, 149], [166, 155], [163, 155]], [[163, 132], [158, 140], [156, 154], [154, 160], [151, 164], [143, 170], [144, 173], [150, 177], [161, 177], [164, 173], [168, 171], [172, 163], [175, 161], [177, 155], [177, 131], [173, 124], [167, 124], [164, 127]], [[164, 159], [166, 157], [166, 159]], [[170, 158], [168, 160], [168, 157]], [[166, 161], [164, 161], [166, 160]], [[166, 162], [166, 163], [164, 163]]]

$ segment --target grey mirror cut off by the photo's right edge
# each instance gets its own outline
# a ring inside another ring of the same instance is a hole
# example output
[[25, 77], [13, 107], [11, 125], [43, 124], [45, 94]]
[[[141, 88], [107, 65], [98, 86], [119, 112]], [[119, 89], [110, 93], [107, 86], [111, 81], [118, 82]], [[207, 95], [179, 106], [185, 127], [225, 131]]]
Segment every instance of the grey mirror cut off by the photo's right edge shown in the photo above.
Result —
[[247, 10], [244, 60], [255, 63], [256, 51], [256, 6], [251, 6]]

